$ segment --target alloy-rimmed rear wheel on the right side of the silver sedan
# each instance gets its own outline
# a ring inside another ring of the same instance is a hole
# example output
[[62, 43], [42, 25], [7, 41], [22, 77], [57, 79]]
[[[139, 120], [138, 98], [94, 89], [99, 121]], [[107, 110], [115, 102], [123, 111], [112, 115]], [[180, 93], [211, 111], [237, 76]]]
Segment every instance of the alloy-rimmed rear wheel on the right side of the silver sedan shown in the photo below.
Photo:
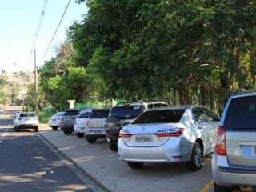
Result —
[[190, 170], [197, 171], [202, 168], [202, 146], [196, 142], [194, 143], [191, 161], [188, 163]]

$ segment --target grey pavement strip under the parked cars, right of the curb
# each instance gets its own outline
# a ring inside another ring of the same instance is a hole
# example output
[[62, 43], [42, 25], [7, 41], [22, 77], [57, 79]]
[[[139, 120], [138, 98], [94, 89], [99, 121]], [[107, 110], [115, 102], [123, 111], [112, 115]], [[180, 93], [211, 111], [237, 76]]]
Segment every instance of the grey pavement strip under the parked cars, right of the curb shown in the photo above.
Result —
[[202, 170], [191, 172], [184, 164], [146, 164], [142, 170], [131, 170], [126, 162], [118, 160], [105, 140], [89, 144], [85, 138], [53, 131], [46, 125], [39, 133], [62, 154], [70, 158], [86, 174], [110, 191], [118, 192], [198, 192], [210, 181], [210, 161]]

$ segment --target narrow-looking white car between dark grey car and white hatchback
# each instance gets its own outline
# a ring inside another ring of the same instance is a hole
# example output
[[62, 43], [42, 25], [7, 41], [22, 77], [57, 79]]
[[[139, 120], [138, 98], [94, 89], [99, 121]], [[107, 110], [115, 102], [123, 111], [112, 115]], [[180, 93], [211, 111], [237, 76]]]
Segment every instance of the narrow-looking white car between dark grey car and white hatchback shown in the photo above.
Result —
[[91, 110], [82, 110], [75, 120], [74, 132], [78, 138], [82, 138], [85, 135], [86, 120], [89, 118]]

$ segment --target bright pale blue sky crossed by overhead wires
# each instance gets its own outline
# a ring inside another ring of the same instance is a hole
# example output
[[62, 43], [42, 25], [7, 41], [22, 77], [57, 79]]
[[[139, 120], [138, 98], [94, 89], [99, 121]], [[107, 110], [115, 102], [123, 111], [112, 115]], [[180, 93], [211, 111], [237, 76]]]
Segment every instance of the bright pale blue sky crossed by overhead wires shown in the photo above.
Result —
[[[0, 6], [0, 71], [32, 71], [34, 60], [31, 46], [45, 0], [1, 0]], [[42, 27], [36, 43], [37, 60], [42, 60], [46, 47], [58, 26], [68, 0], [48, 0]], [[85, 3], [71, 1], [58, 34], [45, 60], [56, 55], [56, 47], [66, 39], [66, 30], [74, 21], [81, 21], [87, 13]], [[15, 64], [14, 64], [15, 63]], [[42, 62], [43, 63], [43, 62]]]

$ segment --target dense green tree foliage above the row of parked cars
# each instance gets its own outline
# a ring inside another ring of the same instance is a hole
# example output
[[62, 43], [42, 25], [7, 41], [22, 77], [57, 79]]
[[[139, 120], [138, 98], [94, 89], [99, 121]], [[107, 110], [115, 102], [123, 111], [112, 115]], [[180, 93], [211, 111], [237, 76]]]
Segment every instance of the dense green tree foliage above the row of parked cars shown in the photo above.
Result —
[[255, 87], [253, 0], [78, 2], [89, 7], [86, 18], [41, 69], [53, 105], [119, 98], [221, 110], [234, 90]]

